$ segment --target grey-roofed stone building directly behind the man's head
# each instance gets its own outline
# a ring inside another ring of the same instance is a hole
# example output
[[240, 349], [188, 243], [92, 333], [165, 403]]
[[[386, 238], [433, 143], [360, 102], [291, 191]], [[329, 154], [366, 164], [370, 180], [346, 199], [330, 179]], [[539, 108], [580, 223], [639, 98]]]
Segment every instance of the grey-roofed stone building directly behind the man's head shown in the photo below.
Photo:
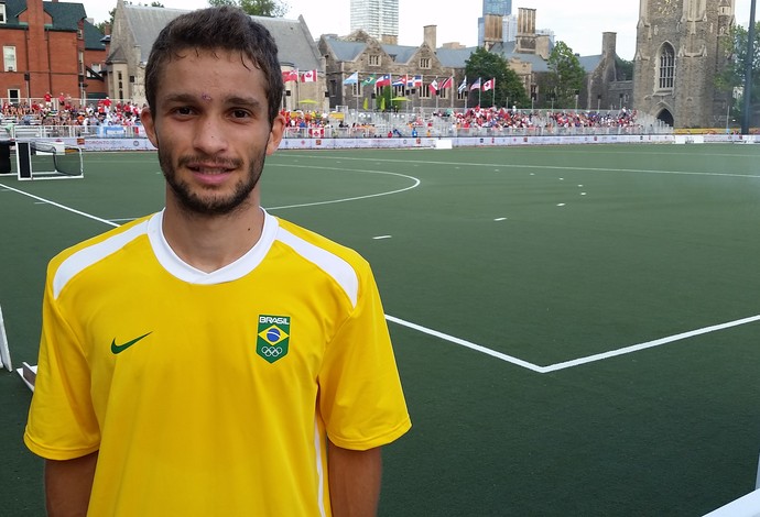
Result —
[[[112, 99], [145, 102], [145, 65], [153, 42], [161, 30], [187, 10], [132, 6], [119, 0], [113, 16], [110, 55], [108, 57], [108, 91]], [[303, 16], [298, 20], [252, 16], [264, 25], [278, 44], [283, 72], [317, 70], [316, 80], [285, 84], [282, 107], [327, 109], [324, 59], [319, 56]], [[313, 77], [313, 76], [312, 76]], [[307, 105], [304, 105], [304, 101]]]

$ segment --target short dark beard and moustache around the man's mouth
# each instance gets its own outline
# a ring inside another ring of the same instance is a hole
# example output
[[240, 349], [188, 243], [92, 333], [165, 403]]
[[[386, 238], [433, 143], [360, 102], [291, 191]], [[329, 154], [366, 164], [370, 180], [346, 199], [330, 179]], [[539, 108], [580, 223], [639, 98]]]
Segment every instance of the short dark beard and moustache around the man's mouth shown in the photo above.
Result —
[[161, 170], [166, 179], [166, 184], [174, 191], [180, 207], [187, 213], [197, 216], [226, 216], [245, 207], [249, 195], [259, 183], [259, 178], [261, 178], [265, 157], [267, 153], [264, 151], [256, 156], [251, 156], [248, 174], [235, 185], [231, 194], [208, 194], [203, 196], [203, 193], [194, 191], [187, 182], [177, 178], [177, 168], [192, 166], [192, 164], [197, 163], [213, 163], [218, 166], [239, 168], [243, 164], [242, 160], [214, 158], [204, 155], [181, 156], [175, 167], [170, 153], [162, 152], [159, 148]]

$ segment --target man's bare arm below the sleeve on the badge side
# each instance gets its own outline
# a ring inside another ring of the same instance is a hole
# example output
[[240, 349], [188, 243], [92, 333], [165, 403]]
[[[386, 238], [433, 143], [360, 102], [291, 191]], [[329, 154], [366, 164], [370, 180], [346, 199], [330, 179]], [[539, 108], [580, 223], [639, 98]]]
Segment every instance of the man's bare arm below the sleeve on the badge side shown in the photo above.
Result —
[[327, 444], [330, 504], [334, 517], [374, 517], [380, 498], [380, 448], [367, 451]]

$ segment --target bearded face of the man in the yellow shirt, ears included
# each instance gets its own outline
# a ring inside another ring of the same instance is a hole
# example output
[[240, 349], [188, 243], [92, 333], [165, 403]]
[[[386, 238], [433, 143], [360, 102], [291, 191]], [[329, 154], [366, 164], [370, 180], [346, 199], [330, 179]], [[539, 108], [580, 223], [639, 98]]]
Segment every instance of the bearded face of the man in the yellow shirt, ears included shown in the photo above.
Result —
[[264, 157], [284, 121], [270, 125], [263, 74], [240, 53], [187, 50], [164, 67], [155, 112], [143, 110], [171, 201], [192, 213], [258, 206]]

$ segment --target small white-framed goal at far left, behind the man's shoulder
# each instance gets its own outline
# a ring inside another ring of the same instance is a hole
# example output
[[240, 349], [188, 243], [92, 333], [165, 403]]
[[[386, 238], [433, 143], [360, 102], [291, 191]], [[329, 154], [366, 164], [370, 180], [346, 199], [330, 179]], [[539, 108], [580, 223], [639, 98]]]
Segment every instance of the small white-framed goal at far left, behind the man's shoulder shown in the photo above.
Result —
[[18, 141], [15, 160], [19, 179], [66, 179], [85, 177], [82, 148], [62, 142]]

